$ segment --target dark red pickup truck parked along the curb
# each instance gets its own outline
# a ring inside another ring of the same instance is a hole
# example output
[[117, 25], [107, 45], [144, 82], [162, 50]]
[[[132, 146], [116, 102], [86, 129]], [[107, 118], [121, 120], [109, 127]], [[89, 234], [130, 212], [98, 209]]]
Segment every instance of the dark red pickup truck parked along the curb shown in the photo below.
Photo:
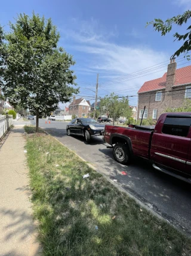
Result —
[[121, 164], [133, 155], [150, 159], [153, 167], [191, 183], [191, 112], [164, 113], [155, 126], [106, 125], [104, 141]]

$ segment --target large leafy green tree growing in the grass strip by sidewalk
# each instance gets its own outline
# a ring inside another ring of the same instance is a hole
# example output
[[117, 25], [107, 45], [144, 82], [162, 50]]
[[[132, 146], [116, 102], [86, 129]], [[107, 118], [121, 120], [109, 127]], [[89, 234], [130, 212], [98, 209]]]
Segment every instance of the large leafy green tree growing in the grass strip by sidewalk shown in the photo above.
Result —
[[58, 102], [66, 103], [78, 89], [76, 76], [70, 70], [72, 56], [58, 47], [60, 38], [51, 19], [33, 13], [20, 14], [10, 23], [1, 52], [4, 62], [2, 91], [12, 106], [29, 109], [39, 118], [56, 110]]

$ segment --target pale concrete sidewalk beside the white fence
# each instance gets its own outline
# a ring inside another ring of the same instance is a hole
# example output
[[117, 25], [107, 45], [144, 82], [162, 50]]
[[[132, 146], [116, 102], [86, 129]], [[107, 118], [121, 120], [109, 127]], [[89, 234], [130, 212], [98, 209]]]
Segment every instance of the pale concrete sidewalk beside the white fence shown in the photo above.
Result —
[[32, 218], [23, 125], [0, 145], [0, 255], [33, 256], [41, 251]]

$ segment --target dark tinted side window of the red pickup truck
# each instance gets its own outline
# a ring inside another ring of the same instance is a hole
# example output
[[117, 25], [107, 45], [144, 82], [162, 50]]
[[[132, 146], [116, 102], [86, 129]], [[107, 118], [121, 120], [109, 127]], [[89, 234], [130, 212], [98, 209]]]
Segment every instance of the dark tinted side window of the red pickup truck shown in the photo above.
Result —
[[162, 127], [162, 132], [181, 137], [186, 137], [191, 125], [191, 118], [167, 117]]

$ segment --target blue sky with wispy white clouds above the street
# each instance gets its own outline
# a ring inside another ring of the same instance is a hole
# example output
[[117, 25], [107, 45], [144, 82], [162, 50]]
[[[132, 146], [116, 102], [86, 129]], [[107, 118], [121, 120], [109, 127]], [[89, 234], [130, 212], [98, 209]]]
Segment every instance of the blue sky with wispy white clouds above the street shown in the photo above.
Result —
[[[76, 61], [73, 70], [79, 95], [91, 100], [95, 98], [97, 73], [99, 97], [111, 92], [136, 95], [144, 82], [162, 76], [180, 46], [173, 42], [172, 34], [184, 32], [186, 27], [161, 37], [151, 26], [146, 28], [146, 23], [189, 8], [191, 0], [10, 0], [1, 2], [0, 23], [6, 31], [8, 22], [14, 22], [19, 13], [31, 15], [35, 11], [51, 17], [61, 35], [60, 46]], [[177, 68], [190, 64], [181, 56], [177, 58]], [[130, 97], [130, 104], [136, 105], [137, 97]]]

